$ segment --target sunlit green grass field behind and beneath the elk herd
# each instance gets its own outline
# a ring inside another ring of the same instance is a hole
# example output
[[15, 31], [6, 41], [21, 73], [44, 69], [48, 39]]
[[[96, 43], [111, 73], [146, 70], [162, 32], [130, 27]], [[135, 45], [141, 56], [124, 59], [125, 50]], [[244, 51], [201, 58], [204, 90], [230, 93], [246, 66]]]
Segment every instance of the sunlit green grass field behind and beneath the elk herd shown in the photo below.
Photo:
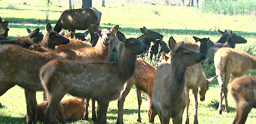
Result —
[[[46, 1], [27, 1], [27, 5], [18, 3], [23, 1], [0, 1], [0, 16], [3, 20], [9, 20], [11, 23], [8, 28], [8, 39], [17, 36], [27, 36], [26, 28], [34, 30], [40, 28], [45, 32], [46, 12], [48, 10]], [[113, 1], [114, 2], [114, 1]], [[81, 2], [80, 2], [81, 4]], [[194, 3], [195, 4], [195, 3]], [[57, 6], [58, 5], [58, 6]], [[123, 5], [123, 6], [122, 6]], [[61, 6], [61, 7], [59, 7]], [[81, 5], [76, 5], [78, 9]], [[232, 30], [233, 33], [245, 38], [248, 42], [245, 44], [237, 44], [235, 49], [246, 51], [252, 55], [256, 55], [255, 39], [256, 39], [256, 22], [255, 15], [224, 15], [202, 13], [200, 7], [183, 7], [183, 6], [164, 6], [164, 5], [139, 5], [119, 2], [106, 3], [106, 7], [101, 7], [99, 1], [93, 3], [93, 7], [102, 13], [100, 27], [112, 28], [119, 24], [119, 31], [126, 38], [139, 37], [142, 35], [139, 31], [143, 26], [147, 29], [156, 31], [164, 36], [167, 43], [170, 36], [176, 41], [195, 41], [193, 36], [199, 38], [210, 38], [211, 41], [217, 42], [220, 39], [218, 29], [221, 31]], [[11, 8], [11, 9], [8, 9]], [[68, 1], [58, 3], [53, 1], [50, 5], [49, 22], [54, 27], [61, 13], [69, 8]], [[155, 14], [157, 12], [158, 14]], [[12, 22], [38, 23], [43, 26], [24, 26], [12, 24]], [[84, 32], [84, 31], [78, 31]], [[200, 45], [200, 44], [199, 44]], [[212, 65], [204, 65], [207, 78], [215, 76], [215, 69]], [[254, 71], [249, 71], [248, 75], [255, 75]], [[191, 94], [191, 91], [190, 91]], [[144, 96], [144, 95], [143, 95]], [[66, 95], [64, 98], [72, 96]], [[210, 84], [206, 93], [206, 100], [199, 101], [198, 121], [199, 123], [232, 123], [236, 115], [236, 104], [230, 93], [228, 93], [228, 104], [230, 113], [223, 112], [222, 115], [217, 114], [219, 101], [218, 83], [214, 81]], [[37, 103], [42, 102], [42, 92], [37, 93]], [[0, 108], [0, 123], [26, 123], [26, 102], [24, 89], [15, 86], [8, 90], [0, 97], [0, 103], [4, 106]], [[224, 103], [223, 103], [224, 104]], [[224, 106], [223, 106], [224, 107]], [[124, 123], [137, 123], [137, 95], [136, 89], [133, 88], [127, 95], [124, 103]], [[141, 107], [142, 123], [148, 122], [147, 104], [145, 99], [142, 101]], [[194, 121], [193, 96], [190, 95], [189, 106], [190, 123]], [[91, 108], [89, 109], [91, 113]], [[110, 102], [107, 112], [107, 122], [115, 123], [117, 120], [117, 101]], [[186, 110], [184, 111], [186, 113]], [[90, 114], [91, 118], [91, 114]], [[171, 122], [171, 121], [170, 121]], [[246, 123], [256, 122], [256, 109], [252, 109], [248, 115]], [[39, 122], [38, 122], [39, 123]], [[93, 123], [92, 121], [77, 120], [70, 123]], [[160, 123], [159, 117], [155, 118], [155, 123]], [[171, 122], [172, 123], [172, 122]], [[183, 123], [185, 123], [185, 114], [183, 114]]]

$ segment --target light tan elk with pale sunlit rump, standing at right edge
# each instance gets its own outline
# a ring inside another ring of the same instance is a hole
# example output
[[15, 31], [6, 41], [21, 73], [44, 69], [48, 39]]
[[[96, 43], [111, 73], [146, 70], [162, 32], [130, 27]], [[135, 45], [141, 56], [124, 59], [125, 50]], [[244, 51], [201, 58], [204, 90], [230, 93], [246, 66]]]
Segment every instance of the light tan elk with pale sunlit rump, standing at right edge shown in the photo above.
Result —
[[[227, 104], [227, 85], [234, 79], [241, 77], [251, 69], [256, 69], [256, 57], [249, 55], [246, 52], [238, 51], [229, 47], [222, 47], [216, 53], [214, 57], [216, 75], [219, 75], [219, 108], [218, 114], [222, 113], [222, 93], [225, 97], [225, 111], [229, 112]], [[222, 76], [225, 76], [224, 83], [222, 82]]]

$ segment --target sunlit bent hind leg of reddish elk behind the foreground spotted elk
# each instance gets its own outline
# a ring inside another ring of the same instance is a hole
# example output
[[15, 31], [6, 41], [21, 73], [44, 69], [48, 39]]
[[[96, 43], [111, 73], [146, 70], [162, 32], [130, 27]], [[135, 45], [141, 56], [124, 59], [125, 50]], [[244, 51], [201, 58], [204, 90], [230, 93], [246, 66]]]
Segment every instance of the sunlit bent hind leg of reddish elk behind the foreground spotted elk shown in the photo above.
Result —
[[118, 115], [117, 115], [117, 123], [123, 123], [123, 103], [125, 101], [126, 95], [130, 92], [133, 84], [129, 79], [123, 86], [123, 90], [120, 92], [119, 100], [118, 100]]

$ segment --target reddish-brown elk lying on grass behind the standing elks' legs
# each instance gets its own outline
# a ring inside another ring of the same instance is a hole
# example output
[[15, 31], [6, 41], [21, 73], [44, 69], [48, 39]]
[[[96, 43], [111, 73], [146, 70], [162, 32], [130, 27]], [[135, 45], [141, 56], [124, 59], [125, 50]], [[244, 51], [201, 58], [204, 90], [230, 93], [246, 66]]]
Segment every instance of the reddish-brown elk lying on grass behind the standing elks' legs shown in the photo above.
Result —
[[[63, 106], [64, 116], [66, 120], [77, 120], [83, 118], [83, 113], [86, 110], [84, 107], [84, 98], [70, 98], [68, 100], [62, 100], [60, 103]], [[37, 105], [36, 119], [39, 121], [43, 120], [43, 115], [47, 101], [44, 101]], [[58, 113], [55, 115], [55, 122], [58, 122], [60, 117]]]

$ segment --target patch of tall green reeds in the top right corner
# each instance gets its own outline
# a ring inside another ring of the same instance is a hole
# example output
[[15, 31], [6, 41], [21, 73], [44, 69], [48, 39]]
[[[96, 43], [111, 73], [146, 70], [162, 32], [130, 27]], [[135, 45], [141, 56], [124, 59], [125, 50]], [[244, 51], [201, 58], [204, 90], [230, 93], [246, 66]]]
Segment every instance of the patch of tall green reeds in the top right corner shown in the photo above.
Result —
[[199, 8], [203, 13], [251, 15], [255, 14], [256, 1], [205, 1]]

